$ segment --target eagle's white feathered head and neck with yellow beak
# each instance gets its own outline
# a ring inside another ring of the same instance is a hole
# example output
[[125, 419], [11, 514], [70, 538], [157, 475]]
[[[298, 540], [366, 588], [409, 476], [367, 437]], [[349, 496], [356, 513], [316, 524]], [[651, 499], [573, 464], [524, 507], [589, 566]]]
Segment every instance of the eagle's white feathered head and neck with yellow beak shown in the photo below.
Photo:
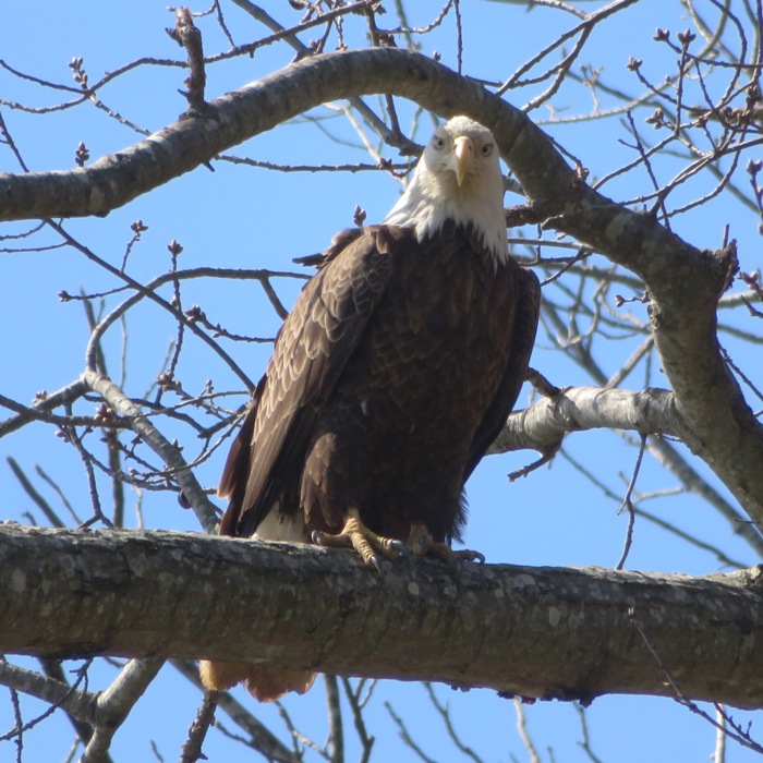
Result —
[[496, 263], [508, 257], [498, 147], [493, 133], [469, 117], [453, 117], [435, 130], [384, 222], [413, 228], [422, 241], [446, 220], [471, 223]]

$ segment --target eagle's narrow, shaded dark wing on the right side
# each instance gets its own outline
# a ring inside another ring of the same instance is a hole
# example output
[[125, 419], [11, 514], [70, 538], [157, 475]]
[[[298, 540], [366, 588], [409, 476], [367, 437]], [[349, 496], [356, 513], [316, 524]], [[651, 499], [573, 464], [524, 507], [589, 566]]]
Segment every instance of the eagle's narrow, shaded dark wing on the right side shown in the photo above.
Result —
[[476, 469], [477, 463], [498, 436], [507, 416], [511, 413], [524, 383], [535, 342], [535, 331], [541, 313], [541, 284], [534, 272], [524, 270], [512, 261], [509, 262], [509, 265], [517, 269], [519, 279], [519, 302], [511, 327], [511, 354], [498, 391], [485, 411], [482, 423], [472, 440], [463, 475], [464, 482]]

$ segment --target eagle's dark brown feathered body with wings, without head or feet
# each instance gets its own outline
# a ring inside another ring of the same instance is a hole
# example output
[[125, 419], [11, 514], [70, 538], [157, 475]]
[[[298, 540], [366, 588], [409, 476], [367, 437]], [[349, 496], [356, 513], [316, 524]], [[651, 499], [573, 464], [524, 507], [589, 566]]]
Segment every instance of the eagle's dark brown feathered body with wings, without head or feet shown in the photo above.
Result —
[[[348, 237], [350, 238], [350, 237]], [[283, 324], [221, 493], [221, 532], [250, 536], [278, 505], [337, 533], [356, 507], [408, 540], [458, 537], [461, 493], [524, 378], [536, 283], [470, 230], [365, 228], [332, 252]], [[519, 315], [520, 326], [517, 325]]]

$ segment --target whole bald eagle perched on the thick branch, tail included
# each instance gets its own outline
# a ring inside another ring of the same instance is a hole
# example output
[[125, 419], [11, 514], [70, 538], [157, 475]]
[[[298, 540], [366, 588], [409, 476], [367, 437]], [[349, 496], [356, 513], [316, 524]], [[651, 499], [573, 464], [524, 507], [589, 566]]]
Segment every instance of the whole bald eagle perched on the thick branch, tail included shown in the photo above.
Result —
[[[520, 391], [535, 276], [509, 256], [498, 149], [435, 131], [382, 225], [346, 231], [283, 323], [231, 447], [220, 534], [355, 548], [379, 567], [453, 552], [463, 487]], [[306, 691], [313, 671], [202, 662], [209, 689]]]

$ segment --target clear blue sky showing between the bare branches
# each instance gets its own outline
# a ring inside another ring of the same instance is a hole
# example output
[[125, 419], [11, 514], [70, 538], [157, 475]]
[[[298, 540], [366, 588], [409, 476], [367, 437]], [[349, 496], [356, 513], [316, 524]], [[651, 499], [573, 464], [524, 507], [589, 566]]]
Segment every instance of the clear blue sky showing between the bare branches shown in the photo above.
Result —
[[[263, 5], [284, 22], [294, 17], [283, 10], [287, 3], [270, 1]], [[439, 9], [439, 3], [429, 0], [419, 0], [415, 7], [411, 5], [414, 8], [410, 12], [412, 24], [427, 23]], [[578, 5], [591, 11], [600, 3]], [[480, 0], [462, 3], [462, 13], [464, 70], [487, 80], [512, 72], [573, 23], [571, 16], [546, 9], [525, 12], [517, 4]], [[234, 8], [227, 9], [227, 17], [238, 41], [264, 34], [262, 27]], [[153, 0], [113, 0], [109, 3], [83, 0], [76, 5], [41, 0], [13, 3], [12, 8], [9, 3], [0, 8], [0, 58], [23, 72], [71, 84], [71, 71], [66, 64], [73, 57], [82, 56], [93, 82], [104, 72], [138, 57], [181, 58], [180, 49], [164, 32], [172, 23], [172, 15], [166, 7]], [[354, 23], [360, 22], [348, 22], [348, 29]], [[211, 22], [199, 22], [199, 25], [208, 53], [226, 49], [225, 39]], [[603, 29], [594, 32], [582, 61], [601, 68], [602, 76], [610, 82], [638, 92], [638, 86], [626, 72], [629, 58], [643, 59], [645, 74], [659, 81], [669, 71], [671, 55], [652, 39], [655, 27], [679, 32], [688, 25], [679, 2], [641, 0]], [[444, 63], [453, 66], [455, 39], [453, 22], [449, 20], [436, 34], [423, 38], [423, 52], [432, 53], [436, 49]], [[275, 47], [258, 51], [253, 59], [211, 68], [207, 94], [215, 97], [234, 89], [286, 65], [290, 59], [289, 51]], [[100, 97], [131, 121], [154, 131], [172, 122], [183, 111], [184, 102], [177, 90], [182, 87], [184, 76], [181, 69], [146, 65], [114, 81]], [[0, 71], [0, 98], [41, 108], [59, 102], [61, 97], [60, 93], [20, 83], [8, 72]], [[516, 99], [514, 94], [508, 96], [517, 106], [529, 97], [525, 90], [517, 93]], [[368, 101], [376, 104], [373, 98]], [[579, 89], [562, 88], [554, 102], [557, 107], [555, 114], [540, 109], [533, 112], [533, 118], [578, 156], [593, 178], [601, 178], [632, 158], [632, 152], [621, 143], [628, 135], [617, 120], [608, 122], [606, 130], [586, 120], [572, 124], [549, 123], [552, 116], [569, 120], [576, 114], [586, 113], [590, 97], [581, 95]], [[402, 112], [410, 113], [404, 107]], [[85, 142], [92, 159], [96, 159], [138, 140], [130, 128], [90, 105], [47, 116], [2, 108], [2, 116], [33, 170], [71, 168], [80, 141]], [[641, 119], [644, 116], [645, 112]], [[329, 126], [343, 137], [352, 135], [341, 123], [341, 118], [330, 122]], [[383, 153], [396, 158], [389, 149]], [[294, 164], [367, 160], [359, 149], [329, 140], [303, 120], [257, 136], [231, 154]], [[761, 158], [760, 152], [758, 158]], [[678, 167], [678, 160], [661, 164], [661, 180], [667, 180]], [[0, 147], [0, 171], [17, 171], [13, 157], [3, 147]], [[604, 192], [620, 201], [637, 196], [649, 187], [645, 175], [631, 173], [607, 184]], [[130, 225], [142, 219], [148, 231], [134, 247], [129, 265], [131, 274], [140, 278], [154, 277], [169, 267], [166, 246], [172, 239], [183, 244], [181, 267], [184, 268], [213, 265], [289, 270], [293, 269], [292, 257], [322, 250], [337, 230], [350, 227], [356, 204], [366, 209], [368, 221], [376, 221], [393, 204], [399, 190], [398, 183], [378, 172], [280, 173], [217, 162], [215, 172], [199, 168], [114, 210], [105, 219], [72, 220], [65, 227], [99, 256], [119, 263], [131, 238]], [[692, 186], [686, 193], [697, 196], [702, 190]], [[507, 197], [509, 204], [519, 201]], [[722, 194], [704, 211], [679, 218], [676, 229], [698, 246], [718, 246], [724, 226], [729, 222], [732, 237], [740, 242], [742, 267], [751, 270], [760, 265], [758, 219], [753, 214], [741, 214], [740, 209], [731, 206]], [[0, 235], [26, 228], [26, 225], [3, 226]], [[48, 243], [55, 241], [49, 233], [44, 234], [44, 239]], [[12, 243], [0, 242], [0, 249]], [[598, 258], [597, 264], [602, 265], [603, 261]], [[281, 299], [290, 303], [299, 284], [286, 279], [274, 283]], [[5, 328], [0, 347], [9, 364], [5, 367], [13, 370], [3, 375], [0, 392], [27, 402], [40, 389], [52, 391], [74, 379], [83, 368], [87, 327], [82, 306], [75, 302], [61, 303], [57, 294], [61, 290], [75, 293], [81, 288], [92, 293], [114, 286], [112, 279], [70, 250], [0, 252], [0, 320]], [[278, 319], [262, 299], [256, 283], [191, 283], [184, 287], [183, 300], [186, 306], [201, 304], [213, 323], [220, 320], [235, 332], [274, 336], [278, 327]], [[113, 306], [116, 300], [111, 299], [109, 304]], [[632, 306], [632, 314], [639, 320], [646, 320], [644, 305]], [[131, 314], [124, 350], [129, 361], [125, 388], [130, 393], [143, 395], [150, 386], [172, 337], [173, 327], [156, 308], [143, 305]], [[639, 341], [638, 338], [631, 343], [611, 341], [606, 346], [600, 361], [608, 373], [619, 367]], [[112, 376], [119, 376], [122, 342], [121, 329], [114, 327], [106, 340]], [[269, 346], [235, 347], [231, 351], [251, 377], [257, 378], [269, 354]], [[748, 374], [753, 377], [758, 374], [760, 378], [763, 371], [760, 355], [748, 354], [744, 360]], [[590, 379], [561, 356], [543, 334], [533, 365], [560, 386], [590, 384]], [[644, 373], [634, 375], [627, 386], [640, 387]], [[211, 353], [193, 343], [186, 348], [179, 375], [190, 391], [201, 391], [208, 378], [214, 378], [219, 389], [237, 387], [230, 373], [216, 362]], [[240, 399], [243, 401], [244, 397]], [[526, 397], [523, 400], [526, 401]], [[196, 446], [191, 435], [184, 432], [180, 437], [187, 438], [186, 456], [194, 452]], [[632, 472], [635, 451], [623, 448], [616, 434], [574, 435], [569, 438], [568, 446], [570, 452], [594, 470], [616, 494], [625, 493], [623, 480]], [[40, 424], [0, 440], [0, 485], [7, 507], [0, 518], [27, 521], [24, 512], [31, 509], [28, 498], [4, 463], [8, 456], [28, 471], [33, 464], [39, 463], [64, 488], [83, 516], [87, 514], [87, 485], [77, 459], [47, 426]], [[627, 525], [627, 517], [617, 511], [618, 502], [604, 497], [581, 480], [569, 462], [560, 458], [550, 468], [509, 484], [506, 475], [534, 458], [534, 453], [522, 452], [491, 457], [481, 464], [469, 485], [471, 519], [467, 544], [482, 550], [491, 562], [604, 567], [617, 564]], [[202, 484], [208, 487], [216, 484], [222, 460], [223, 452], [220, 451], [198, 469]], [[726, 495], [703, 464], [693, 459], [692, 464]], [[674, 485], [675, 480], [658, 467], [651, 462], [645, 464], [640, 489], [666, 489]], [[56, 500], [49, 488], [41, 486], [40, 489]], [[198, 529], [191, 513], [179, 509], [174, 498], [166, 494], [140, 496], [131, 493], [129, 506], [132, 526], [138, 522], [140, 509], [145, 526]], [[654, 507], [650, 504], [649, 508], [701, 540], [717, 544], [742, 564], [754, 564], [749, 547], [701, 499], [680, 496], [655, 502]], [[691, 574], [719, 570], [712, 554], [697, 550], [643, 521], [637, 523], [628, 567]], [[93, 674], [92, 688], [98, 681], [102, 681], [105, 688], [112, 675], [110, 668], [98, 668]], [[240, 699], [249, 702], [245, 694], [238, 691]], [[514, 729], [516, 712], [511, 702], [498, 700], [486, 690], [460, 693], [447, 687], [436, 687], [436, 693], [443, 702], [449, 703], [463, 741], [485, 761], [526, 760], [528, 753]], [[396, 682], [379, 685], [371, 704], [368, 724], [377, 737], [372, 760], [388, 761], [393, 756], [401, 761], [414, 760], [410, 750], [399, 741], [384, 701], [391, 702], [396, 712], [416, 729], [417, 740], [434, 760], [461, 760], [438, 725], [424, 689], [419, 685]], [[166, 667], [138, 703], [125, 728], [117, 735], [114, 760], [153, 760], [147, 739], [156, 741], [165, 760], [177, 759], [197, 703], [196, 691], [171, 667]], [[304, 724], [318, 741], [323, 740], [326, 730], [320, 686], [305, 698], [289, 700], [288, 707], [298, 724]], [[25, 703], [25, 717], [33, 717], [37, 708], [35, 702]], [[258, 717], [269, 719], [276, 728], [282, 728], [272, 708], [255, 707], [254, 712]], [[526, 706], [525, 714], [543, 761], [574, 763], [590, 760], [579, 744], [582, 732], [573, 706], [540, 702]], [[26, 761], [64, 760], [72, 732], [65, 719], [59, 716], [45, 722], [45, 741], [40, 732], [27, 735]], [[746, 717], [738, 713], [735, 716]], [[754, 736], [760, 720], [756, 715], [749, 717], [753, 722]], [[593, 750], [603, 761], [667, 763], [707, 760], [714, 747], [714, 729], [670, 700], [603, 698], [593, 703], [586, 718]], [[222, 720], [232, 727], [225, 716]], [[349, 729], [349, 716], [346, 724]], [[2, 700], [0, 734], [11, 726], [10, 703]], [[763, 738], [763, 732], [760, 737]], [[348, 739], [351, 738], [352, 732], [348, 730]], [[553, 754], [548, 748], [553, 748]], [[247, 760], [241, 746], [214, 731], [205, 751], [213, 761]], [[14, 760], [14, 755], [12, 744], [0, 742], [0, 763]], [[348, 760], [353, 759], [350, 754]], [[729, 743], [727, 763], [748, 760], [752, 760], [751, 753]]]

